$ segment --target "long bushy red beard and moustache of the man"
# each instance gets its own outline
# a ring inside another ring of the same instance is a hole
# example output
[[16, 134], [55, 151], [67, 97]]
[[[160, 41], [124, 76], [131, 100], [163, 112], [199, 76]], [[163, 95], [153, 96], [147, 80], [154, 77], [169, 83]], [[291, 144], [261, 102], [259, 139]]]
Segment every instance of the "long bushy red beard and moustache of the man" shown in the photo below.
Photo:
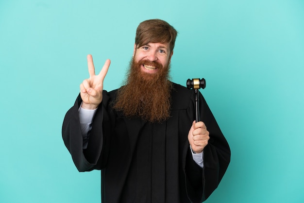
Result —
[[[141, 64], [158, 68], [156, 73], [145, 73]], [[169, 81], [169, 65], [151, 61], [130, 63], [126, 84], [118, 90], [114, 108], [122, 111], [128, 118], [139, 117], [146, 121], [162, 122], [170, 116], [170, 93], [172, 84]]]

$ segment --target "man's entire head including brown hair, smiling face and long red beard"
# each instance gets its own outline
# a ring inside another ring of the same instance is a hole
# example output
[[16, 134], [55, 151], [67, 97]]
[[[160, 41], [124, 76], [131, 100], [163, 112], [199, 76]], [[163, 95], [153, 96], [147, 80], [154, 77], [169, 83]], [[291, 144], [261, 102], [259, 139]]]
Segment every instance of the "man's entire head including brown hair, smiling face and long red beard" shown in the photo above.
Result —
[[170, 61], [176, 30], [164, 20], [152, 19], [136, 29], [128, 76], [119, 88], [113, 108], [128, 118], [162, 122], [170, 117]]

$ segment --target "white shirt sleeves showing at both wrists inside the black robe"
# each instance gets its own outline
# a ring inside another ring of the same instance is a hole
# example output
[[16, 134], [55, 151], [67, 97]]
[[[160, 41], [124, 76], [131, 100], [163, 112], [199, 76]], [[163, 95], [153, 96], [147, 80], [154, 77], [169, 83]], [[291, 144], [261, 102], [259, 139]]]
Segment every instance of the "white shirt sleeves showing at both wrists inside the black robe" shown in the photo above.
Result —
[[[81, 127], [81, 134], [83, 135], [83, 148], [86, 149], [87, 147], [87, 141], [88, 136], [87, 132], [89, 132], [91, 128], [91, 123], [94, 118], [95, 112], [97, 109], [90, 110], [90, 109], [84, 109], [79, 108], [79, 120], [80, 120], [80, 127]], [[191, 146], [190, 146], [191, 149]], [[199, 165], [201, 168], [203, 168], [203, 152], [201, 153], [194, 153], [191, 149], [193, 160], [197, 165]]]

